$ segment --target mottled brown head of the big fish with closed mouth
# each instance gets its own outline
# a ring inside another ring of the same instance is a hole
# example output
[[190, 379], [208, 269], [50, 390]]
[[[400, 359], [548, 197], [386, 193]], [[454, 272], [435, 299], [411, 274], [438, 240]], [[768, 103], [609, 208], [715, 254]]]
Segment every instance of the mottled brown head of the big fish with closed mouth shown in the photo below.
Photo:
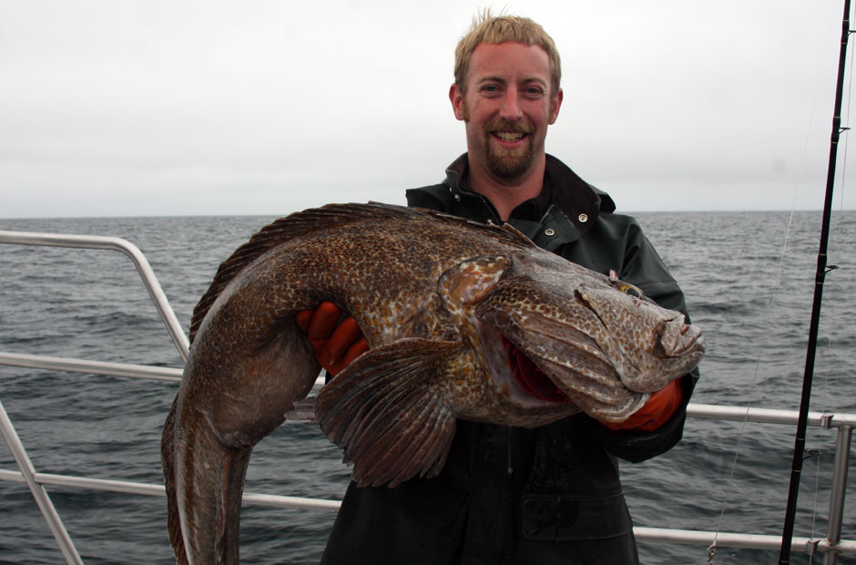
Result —
[[536, 390], [513, 375], [529, 395], [621, 421], [698, 365], [704, 341], [682, 313], [629, 292], [632, 285], [556, 260], [535, 269], [514, 262], [482, 292], [474, 315], [494, 379], [514, 373], [501, 365], [499, 341], [505, 354], [523, 352], [560, 392], [538, 394], [543, 384]]

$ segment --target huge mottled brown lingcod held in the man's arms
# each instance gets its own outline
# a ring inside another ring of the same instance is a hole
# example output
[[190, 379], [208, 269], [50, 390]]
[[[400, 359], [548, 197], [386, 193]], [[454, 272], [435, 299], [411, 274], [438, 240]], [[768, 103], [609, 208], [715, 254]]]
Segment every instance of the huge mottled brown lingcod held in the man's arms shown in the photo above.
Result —
[[[683, 314], [627, 288], [507, 225], [383, 204], [274, 221], [220, 265], [193, 313], [162, 441], [178, 562], [238, 562], [250, 451], [295, 403], [372, 486], [439, 473], [456, 418], [626, 419], [704, 351]], [[351, 314], [370, 350], [304, 400], [320, 366], [295, 314], [321, 301]], [[511, 349], [543, 375], [513, 371]]]

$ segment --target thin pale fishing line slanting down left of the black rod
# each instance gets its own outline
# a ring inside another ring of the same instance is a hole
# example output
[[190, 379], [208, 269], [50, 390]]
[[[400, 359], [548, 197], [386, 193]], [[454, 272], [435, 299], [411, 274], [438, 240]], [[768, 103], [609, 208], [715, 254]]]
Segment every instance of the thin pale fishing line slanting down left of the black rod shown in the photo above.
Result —
[[[790, 241], [790, 231], [791, 231], [791, 228], [793, 226], [794, 213], [796, 211], [797, 195], [800, 192], [800, 186], [802, 184], [802, 178], [803, 178], [803, 175], [804, 175], [805, 170], [806, 170], [806, 161], [808, 160], [811, 129], [812, 129], [814, 122], [815, 122], [815, 116], [817, 115], [818, 107], [820, 106], [820, 93], [821, 93], [822, 85], [823, 85], [824, 72], [826, 71], [826, 69], [829, 65], [830, 58], [831, 58], [829, 56], [830, 55], [830, 49], [831, 49], [830, 46], [832, 43], [832, 37], [834, 35], [833, 32], [835, 30], [835, 26], [836, 26], [836, 14], [835, 14], [835, 11], [833, 9], [831, 9], [830, 10], [830, 26], [829, 26], [830, 27], [830, 33], [827, 33], [826, 46], [823, 49], [824, 56], [822, 57], [822, 62], [820, 64], [820, 68], [818, 70], [817, 81], [816, 81], [817, 87], [815, 89], [814, 104], [811, 107], [811, 112], [810, 112], [810, 116], [809, 116], [809, 124], [808, 124], [808, 128], [806, 129], [806, 137], [805, 137], [805, 141], [803, 142], [803, 147], [802, 147], [802, 156], [800, 159], [800, 173], [797, 176], [797, 181], [794, 185], [791, 200], [790, 200], [790, 216], [788, 218], [788, 226], [785, 229], [785, 239], [784, 239], [784, 242], [782, 243], [782, 249], [781, 249], [781, 254], [780, 254], [780, 258], [779, 258], [779, 268], [776, 272], [775, 282], [771, 287], [773, 289], [780, 289], [780, 287], [781, 287], [782, 272], [784, 271], [784, 262], [785, 262], [785, 257], [787, 255], [787, 251], [788, 251], [788, 242]], [[851, 64], [852, 64], [852, 61], [851, 61]], [[850, 104], [849, 100], [848, 100], [848, 104]], [[846, 139], [845, 139], [845, 143], [846, 143]], [[769, 327], [770, 326], [770, 315], [772, 312], [772, 305], [773, 305], [773, 301], [775, 300], [775, 297], [778, 294], [779, 293], [773, 292], [773, 293], [770, 293], [770, 295], [769, 295], [768, 307], [765, 309], [766, 311], [764, 313], [764, 321], [763, 321], [763, 324], [761, 324], [762, 327]], [[719, 531], [722, 527], [722, 520], [725, 518], [725, 512], [726, 512], [726, 509], [728, 508], [728, 504], [729, 504], [729, 488], [733, 484], [734, 473], [737, 469], [739, 456], [740, 456], [742, 446], [743, 446], [743, 438], [746, 435], [746, 425], [749, 422], [749, 409], [752, 407], [752, 405], [754, 403], [755, 393], [758, 389], [758, 375], [759, 375], [760, 364], [761, 364], [761, 359], [760, 359], [760, 354], [759, 354], [755, 360], [755, 370], [754, 370], [753, 375], [752, 375], [752, 382], [749, 385], [749, 399], [748, 399], [747, 404], [746, 404], [746, 411], [744, 413], [743, 419], [742, 419], [741, 424], [740, 424], [740, 431], [738, 434], [737, 447], [735, 447], [734, 458], [732, 459], [731, 466], [729, 468], [729, 477], [726, 480], [725, 494], [723, 495], [723, 498], [722, 498], [722, 506], [721, 506], [721, 510], [719, 512], [719, 517], [717, 520], [717, 527], [714, 530], [715, 533], [714, 533], [713, 542], [708, 547], [708, 556], [707, 556], [708, 560], [706, 561], [707, 565], [713, 564], [714, 558], [716, 555], [717, 540], [719, 537]]]

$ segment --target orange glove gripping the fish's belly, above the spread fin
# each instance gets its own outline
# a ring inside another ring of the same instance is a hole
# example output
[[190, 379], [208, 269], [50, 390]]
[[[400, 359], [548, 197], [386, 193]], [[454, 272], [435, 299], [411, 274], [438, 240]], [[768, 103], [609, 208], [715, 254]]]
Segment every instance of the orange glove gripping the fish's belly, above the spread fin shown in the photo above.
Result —
[[341, 310], [331, 302], [320, 303], [315, 310], [297, 313], [297, 324], [309, 335], [315, 359], [330, 375], [338, 374], [354, 359], [369, 351], [360, 324], [348, 316], [339, 323]]

